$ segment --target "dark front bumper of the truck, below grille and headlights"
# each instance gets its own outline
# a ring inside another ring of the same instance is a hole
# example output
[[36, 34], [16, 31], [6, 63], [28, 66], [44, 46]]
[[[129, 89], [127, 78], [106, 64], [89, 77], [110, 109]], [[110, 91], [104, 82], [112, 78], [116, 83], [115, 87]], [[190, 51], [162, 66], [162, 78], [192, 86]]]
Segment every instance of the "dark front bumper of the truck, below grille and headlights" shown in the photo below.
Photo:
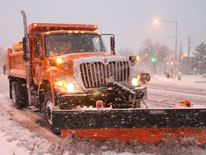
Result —
[[[125, 90], [126, 89], [126, 90]], [[109, 88], [94, 89], [88, 93], [61, 94], [59, 95], [59, 107], [61, 109], [75, 109], [80, 107], [96, 107], [96, 101], [102, 100], [104, 107], [130, 108], [134, 102], [147, 98], [147, 88], [137, 87], [135, 89], [122, 88], [112, 85]]]

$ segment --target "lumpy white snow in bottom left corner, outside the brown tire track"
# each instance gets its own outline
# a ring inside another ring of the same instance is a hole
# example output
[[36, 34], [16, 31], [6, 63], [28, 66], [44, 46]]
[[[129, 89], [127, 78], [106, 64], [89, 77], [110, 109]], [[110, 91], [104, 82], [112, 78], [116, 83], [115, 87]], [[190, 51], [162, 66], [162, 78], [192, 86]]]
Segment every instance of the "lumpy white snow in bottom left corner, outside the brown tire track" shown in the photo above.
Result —
[[1, 155], [51, 154], [52, 146], [47, 140], [21, 127], [3, 107], [0, 122]]

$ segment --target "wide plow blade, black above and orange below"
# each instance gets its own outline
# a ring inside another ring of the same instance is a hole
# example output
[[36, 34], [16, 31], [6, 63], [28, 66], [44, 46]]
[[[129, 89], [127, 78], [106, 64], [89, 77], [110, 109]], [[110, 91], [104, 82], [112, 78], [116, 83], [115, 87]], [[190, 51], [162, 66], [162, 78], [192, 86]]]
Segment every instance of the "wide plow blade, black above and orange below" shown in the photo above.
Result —
[[53, 111], [53, 126], [61, 136], [140, 143], [164, 138], [194, 137], [206, 143], [206, 109], [133, 109]]

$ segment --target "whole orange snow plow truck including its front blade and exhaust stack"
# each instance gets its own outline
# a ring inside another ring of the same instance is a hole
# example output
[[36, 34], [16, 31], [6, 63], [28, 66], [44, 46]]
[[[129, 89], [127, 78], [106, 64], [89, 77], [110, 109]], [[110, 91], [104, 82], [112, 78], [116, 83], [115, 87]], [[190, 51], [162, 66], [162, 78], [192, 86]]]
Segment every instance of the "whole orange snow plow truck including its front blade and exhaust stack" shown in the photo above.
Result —
[[[206, 109], [149, 109], [147, 88], [131, 76], [129, 59], [115, 55], [115, 36], [97, 25], [24, 21], [23, 41], [7, 51], [10, 98], [35, 107], [61, 137], [117, 138], [158, 143], [194, 136], [206, 141]], [[110, 35], [111, 51], [102, 40]]]

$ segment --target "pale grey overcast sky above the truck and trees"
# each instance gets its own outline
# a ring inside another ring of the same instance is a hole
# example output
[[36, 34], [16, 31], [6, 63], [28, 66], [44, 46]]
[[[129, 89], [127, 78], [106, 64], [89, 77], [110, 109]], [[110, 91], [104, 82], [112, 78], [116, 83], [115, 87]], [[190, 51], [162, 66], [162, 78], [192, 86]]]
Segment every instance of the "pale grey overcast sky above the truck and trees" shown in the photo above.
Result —
[[187, 52], [188, 36], [192, 49], [206, 42], [206, 0], [0, 0], [0, 46], [11, 47], [23, 37], [20, 11], [27, 14], [28, 24], [54, 22], [98, 24], [103, 33], [116, 35], [116, 48], [138, 52], [143, 41], [151, 38], [174, 50], [175, 24], [178, 22], [180, 41]]

